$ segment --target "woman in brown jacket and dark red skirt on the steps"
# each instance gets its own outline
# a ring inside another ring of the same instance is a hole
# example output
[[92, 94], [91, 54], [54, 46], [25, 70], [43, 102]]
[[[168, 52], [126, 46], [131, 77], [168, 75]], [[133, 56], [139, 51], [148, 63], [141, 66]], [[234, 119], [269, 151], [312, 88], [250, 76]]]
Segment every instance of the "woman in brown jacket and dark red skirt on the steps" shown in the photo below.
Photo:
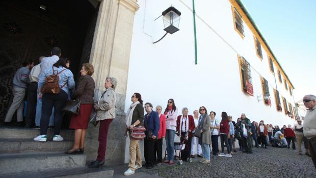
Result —
[[78, 115], [71, 117], [70, 129], [74, 129], [74, 145], [66, 154], [82, 154], [86, 139], [86, 131], [90, 114], [93, 108], [93, 94], [95, 83], [91, 75], [94, 72], [93, 66], [89, 63], [84, 63], [81, 68], [81, 78], [74, 90], [73, 97], [80, 99], [81, 106]]

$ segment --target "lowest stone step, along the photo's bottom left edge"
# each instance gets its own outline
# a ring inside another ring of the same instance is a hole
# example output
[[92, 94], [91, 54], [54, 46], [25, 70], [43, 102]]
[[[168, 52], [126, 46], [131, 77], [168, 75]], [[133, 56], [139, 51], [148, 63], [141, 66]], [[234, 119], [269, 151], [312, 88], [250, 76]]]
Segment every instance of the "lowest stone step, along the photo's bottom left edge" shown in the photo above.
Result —
[[112, 168], [88, 168], [88, 167], [75, 167], [63, 169], [50, 169], [45, 171], [21, 172], [13, 174], [0, 175], [2, 178], [43, 178], [43, 177], [60, 177], [60, 178], [107, 178], [113, 177], [114, 170]]

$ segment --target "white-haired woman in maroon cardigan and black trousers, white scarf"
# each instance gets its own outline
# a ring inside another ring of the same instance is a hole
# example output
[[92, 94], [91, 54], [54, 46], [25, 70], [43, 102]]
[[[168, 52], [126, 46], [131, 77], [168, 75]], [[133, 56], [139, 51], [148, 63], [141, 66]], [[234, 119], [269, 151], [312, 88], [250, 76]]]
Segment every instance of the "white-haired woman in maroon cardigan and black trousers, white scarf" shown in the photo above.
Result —
[[188, 108], [182, 109], [182, 115], [177, 117], [177, 133], [181, 135], [180, 141], [185, 139], [188, 133], [188, 140], [186, 142], [185, 149], [181, 152], [181, 159], [188, 160], [191, 157], [191, 142], [192, 142], [192, 131], [195, 128], [194, 119], [192, 115], [188, 115]]

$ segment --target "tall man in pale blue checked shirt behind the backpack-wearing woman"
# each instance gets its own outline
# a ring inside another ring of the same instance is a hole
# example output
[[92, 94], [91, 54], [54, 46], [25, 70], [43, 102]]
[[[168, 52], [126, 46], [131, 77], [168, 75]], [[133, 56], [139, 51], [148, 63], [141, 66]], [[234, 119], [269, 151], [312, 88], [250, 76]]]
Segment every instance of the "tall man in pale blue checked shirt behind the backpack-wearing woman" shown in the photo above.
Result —
[[[38, 78], [40, 78], [44, 71], [47, 69], [51, 69], [52, 65], [54, 65], [58, 60], [61, 54], [62, 50], [59, 47], [53, 47], [51, 48], [50, 57], [43, 58], [40, 64], [41, 71], [38, 75]], [[41, 121], [41, 115], [42, 115], [42, 98], [39, 98], [39, 91], [37, 91], [37, 105], [36, 105], [36, 116], [35, 116], [35, 128], [40, 127], [40, 121]], [[51, 113], [51, 116], [49, 118], [49, 128], [54, 125], [54, 110]]]

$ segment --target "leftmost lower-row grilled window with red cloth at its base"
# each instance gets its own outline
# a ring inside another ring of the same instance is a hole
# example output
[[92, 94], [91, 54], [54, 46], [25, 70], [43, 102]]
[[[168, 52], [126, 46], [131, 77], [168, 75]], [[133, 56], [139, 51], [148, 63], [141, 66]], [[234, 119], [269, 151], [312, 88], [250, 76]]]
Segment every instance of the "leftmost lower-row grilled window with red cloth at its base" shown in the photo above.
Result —
[[250, 64], [244, 57], [240, 57], [240, 68], [243, 91], [253, 94]]

